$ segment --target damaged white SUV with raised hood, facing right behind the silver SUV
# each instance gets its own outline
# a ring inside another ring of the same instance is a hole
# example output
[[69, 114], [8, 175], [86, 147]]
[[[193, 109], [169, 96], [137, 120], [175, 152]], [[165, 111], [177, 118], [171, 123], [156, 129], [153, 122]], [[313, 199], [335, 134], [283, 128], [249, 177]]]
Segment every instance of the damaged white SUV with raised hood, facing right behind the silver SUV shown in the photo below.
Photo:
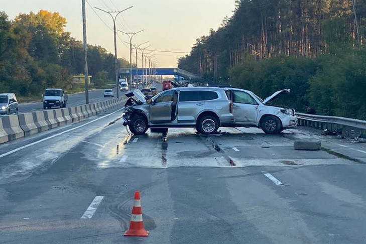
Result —
[[252, 91], [231, 87], [223, 89], [232, 102], [233, 127], [258, 127], [266, 134], [277, 134], [296, 127], [293, 108], [268, 105], [278, 94], [289, 93], [290, 89], [276, 91], [264, 100]]

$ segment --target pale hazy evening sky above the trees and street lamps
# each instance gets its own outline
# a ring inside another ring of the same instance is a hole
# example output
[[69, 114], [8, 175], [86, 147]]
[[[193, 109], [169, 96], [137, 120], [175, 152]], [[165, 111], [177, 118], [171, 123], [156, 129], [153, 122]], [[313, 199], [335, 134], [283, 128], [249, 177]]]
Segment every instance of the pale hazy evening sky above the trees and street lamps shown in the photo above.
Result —
[[[105, 10], [123, 10], [117, 17], [116, 28], [127, 32], [136, 32], [133, 42], [149, 41], [151, 49], [189, 52], [195, 39], [216, 30], [225, 16], [231, 16], [234, 0], [87, 0], [86, 21], [87, 41], [100, 45], [109, 52], [113, 51], [112, 19], [103, 12], [93, 12], [92, 7]], [[89, 6], [89, 5], [90, 6]], [[0, 0], [0, 11], [5, 11], [10, 19], [19, 13], [38, 12], [44, 9], [59, 12], [67, 20], [66, 31], [77, 40], [82, 40], [81, 0]], [[103, 23], [105, 22], [107, 26]], [[110, 28], [110, 29], [108, 29]], [[118, 34], [129, 41], [123, 33]], [[129, 45], [117, 38], [117, 55], [130, 59]], [[174, 67], [177, 58], [184, 54], [155, 52], [159, 67]], [[141, 55], [139, 56], [139, 66]], [[133, 56], [133, 62], [136, 60]]]

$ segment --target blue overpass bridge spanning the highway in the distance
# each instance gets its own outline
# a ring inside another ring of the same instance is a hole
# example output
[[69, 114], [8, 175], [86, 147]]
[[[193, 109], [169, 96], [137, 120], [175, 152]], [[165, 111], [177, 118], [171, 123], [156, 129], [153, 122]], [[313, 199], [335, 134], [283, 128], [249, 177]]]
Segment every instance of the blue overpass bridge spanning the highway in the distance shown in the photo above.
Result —
[[[148, 71], [148, 74], [146, 74], [146, 70]], [[174, 76], [178, 76], [179, 77], [184, 77], [185, 79], [201, 79], [201, 77], [199, 75], [193, 74], [191, 72], [188, 72], [186, 70], [183, 69], [179, 69], [179, 68], [153, 68], [150, 69], [151, 70], [151, 74], [150, 75], [174, 75]], [[135, 75], [149, 75], [149, 68], [132, 68], [132, 76]], [[127, 76], [130, 77], [130, 68], [122, 68], [122, 69], [118, 69], [118, 74], [119, 76]]]

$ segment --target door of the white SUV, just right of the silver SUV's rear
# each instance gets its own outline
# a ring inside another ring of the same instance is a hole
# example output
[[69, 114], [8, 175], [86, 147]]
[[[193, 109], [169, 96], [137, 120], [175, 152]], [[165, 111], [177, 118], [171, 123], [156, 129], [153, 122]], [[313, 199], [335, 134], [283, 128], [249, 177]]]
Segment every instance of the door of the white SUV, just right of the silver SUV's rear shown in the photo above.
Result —
[[257, 101], [245, 91], [231, 90], [230, 95], [233, 103], [234, 124], [257, 125]]

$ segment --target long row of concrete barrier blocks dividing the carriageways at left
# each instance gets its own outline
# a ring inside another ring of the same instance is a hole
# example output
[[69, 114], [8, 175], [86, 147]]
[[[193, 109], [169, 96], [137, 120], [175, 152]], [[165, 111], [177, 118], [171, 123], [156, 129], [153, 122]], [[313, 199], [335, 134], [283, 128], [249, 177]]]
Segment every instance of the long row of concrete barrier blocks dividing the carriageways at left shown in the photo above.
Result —
[[124, 105], [126, 96], [107, 101], [0, 117], [0, 144], [28, 137]]

